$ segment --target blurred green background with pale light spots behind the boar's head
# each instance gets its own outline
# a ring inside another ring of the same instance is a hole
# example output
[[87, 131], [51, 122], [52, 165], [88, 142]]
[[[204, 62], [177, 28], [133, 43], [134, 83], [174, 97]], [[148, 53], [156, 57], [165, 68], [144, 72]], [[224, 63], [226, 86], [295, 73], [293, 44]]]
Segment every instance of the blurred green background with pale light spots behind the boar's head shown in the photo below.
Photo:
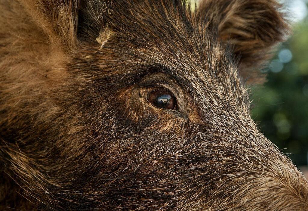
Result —
[[252, 89], [251, 115], [308, 178], [308, 0], [278, 1], [290, 14], [293, 34], [261, 70], [267, 82]]

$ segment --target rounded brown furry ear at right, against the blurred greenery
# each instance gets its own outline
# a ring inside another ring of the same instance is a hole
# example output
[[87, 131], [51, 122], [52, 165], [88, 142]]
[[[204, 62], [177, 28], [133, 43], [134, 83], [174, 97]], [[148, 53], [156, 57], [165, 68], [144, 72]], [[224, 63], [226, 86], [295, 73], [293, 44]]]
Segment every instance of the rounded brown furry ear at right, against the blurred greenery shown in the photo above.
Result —
[[196, 17], [209, 21], [223, 43], [234, 45], [242, 77], [258, 83], [258, 69], [290, 31], [281, 9], [274, 0], [201, 0]]

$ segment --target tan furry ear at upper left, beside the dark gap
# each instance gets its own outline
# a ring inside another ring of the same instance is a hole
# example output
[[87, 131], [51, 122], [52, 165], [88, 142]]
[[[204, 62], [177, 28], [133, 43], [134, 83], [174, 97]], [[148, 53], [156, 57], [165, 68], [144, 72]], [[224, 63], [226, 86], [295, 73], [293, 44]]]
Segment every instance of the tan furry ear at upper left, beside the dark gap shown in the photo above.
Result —
[[77, 0], [20, 0], [26, 12], [48, 35], [52, 44], [72, 48], [76, 44]]

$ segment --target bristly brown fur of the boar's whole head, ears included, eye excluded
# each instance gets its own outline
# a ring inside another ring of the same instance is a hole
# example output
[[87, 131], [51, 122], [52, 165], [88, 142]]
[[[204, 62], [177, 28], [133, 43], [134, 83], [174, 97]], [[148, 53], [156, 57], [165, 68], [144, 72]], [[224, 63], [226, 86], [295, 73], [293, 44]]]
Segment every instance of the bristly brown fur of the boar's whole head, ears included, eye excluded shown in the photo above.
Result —
[[[0, 9], [0, 209], [308, 209], [243, 84], [288, 31], [274, 1]], [[152, 106], [153, 87], [178, 109]]]

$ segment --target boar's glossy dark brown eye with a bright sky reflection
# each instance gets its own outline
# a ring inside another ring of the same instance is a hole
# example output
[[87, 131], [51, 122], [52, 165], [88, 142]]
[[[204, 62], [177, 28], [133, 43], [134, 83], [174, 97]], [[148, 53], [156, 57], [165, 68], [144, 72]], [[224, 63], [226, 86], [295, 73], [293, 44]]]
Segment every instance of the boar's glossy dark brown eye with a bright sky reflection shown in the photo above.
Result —
[[155, 107], [172, 110], [176, 109], [176, 98], [167, 89], [154, 89], [148, 93], [147, 99]]

